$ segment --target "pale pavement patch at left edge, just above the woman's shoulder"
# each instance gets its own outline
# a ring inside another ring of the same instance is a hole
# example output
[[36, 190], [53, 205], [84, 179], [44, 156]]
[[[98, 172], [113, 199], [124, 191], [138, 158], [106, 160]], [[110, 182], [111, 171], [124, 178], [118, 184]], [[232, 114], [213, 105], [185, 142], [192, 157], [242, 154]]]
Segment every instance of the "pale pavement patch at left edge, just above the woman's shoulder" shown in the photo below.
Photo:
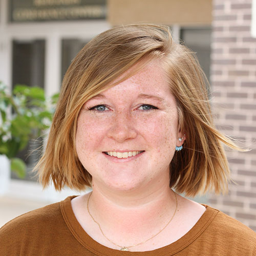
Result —
[[23, 200], [8, 196], [0, 197], [0, 227], [13, 218], [50, 204], [49, 202], [37, 202]]

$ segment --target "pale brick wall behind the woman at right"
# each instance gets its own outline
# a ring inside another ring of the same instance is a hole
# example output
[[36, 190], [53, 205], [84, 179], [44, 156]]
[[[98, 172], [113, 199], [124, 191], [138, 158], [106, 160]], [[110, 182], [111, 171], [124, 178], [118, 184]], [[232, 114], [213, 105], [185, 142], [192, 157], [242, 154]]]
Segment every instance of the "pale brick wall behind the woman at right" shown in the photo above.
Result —
[[251, 2], [213, 1], [210, 80], [216, 122], [252, 150], [228, 152], [237, 184], [229, 185], [226, 196], [210, 196], [209, 203], [256, 231], [256, 38], [250, 34]]

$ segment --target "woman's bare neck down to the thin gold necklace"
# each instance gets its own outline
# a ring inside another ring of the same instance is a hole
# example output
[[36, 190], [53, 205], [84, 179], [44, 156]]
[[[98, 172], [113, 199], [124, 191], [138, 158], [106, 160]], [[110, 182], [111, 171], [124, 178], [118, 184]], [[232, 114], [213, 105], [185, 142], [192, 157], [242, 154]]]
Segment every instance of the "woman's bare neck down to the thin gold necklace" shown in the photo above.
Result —
[[176, 210], [175, 194], [168, 185], [143, 193], [100, 188], [93, 184], [89, 209], [105, 236], [117, 244], [130, 246], [153, 237]]

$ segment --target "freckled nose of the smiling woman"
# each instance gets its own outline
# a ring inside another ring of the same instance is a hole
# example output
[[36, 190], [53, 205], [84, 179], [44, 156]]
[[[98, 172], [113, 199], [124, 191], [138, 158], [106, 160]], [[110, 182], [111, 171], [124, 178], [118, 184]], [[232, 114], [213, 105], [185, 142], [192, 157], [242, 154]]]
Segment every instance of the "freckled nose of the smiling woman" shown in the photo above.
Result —
[[117, 112], [112, 120], [112, 124], [107, 136], [116, 140], [117, 142], [123, 142], [127, 139], [134, 139], [137, 136], [134, 126], [135, 125], [131, 114], [124, 113], [123, 111]]

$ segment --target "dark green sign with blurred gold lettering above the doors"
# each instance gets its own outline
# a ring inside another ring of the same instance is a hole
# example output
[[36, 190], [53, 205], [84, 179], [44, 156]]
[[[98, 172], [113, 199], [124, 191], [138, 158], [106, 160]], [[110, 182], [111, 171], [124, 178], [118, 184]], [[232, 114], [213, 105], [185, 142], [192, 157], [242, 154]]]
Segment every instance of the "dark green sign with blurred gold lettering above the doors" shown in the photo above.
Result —
[[106, 0], [10, 0], [9, 21], [105, 19]]

